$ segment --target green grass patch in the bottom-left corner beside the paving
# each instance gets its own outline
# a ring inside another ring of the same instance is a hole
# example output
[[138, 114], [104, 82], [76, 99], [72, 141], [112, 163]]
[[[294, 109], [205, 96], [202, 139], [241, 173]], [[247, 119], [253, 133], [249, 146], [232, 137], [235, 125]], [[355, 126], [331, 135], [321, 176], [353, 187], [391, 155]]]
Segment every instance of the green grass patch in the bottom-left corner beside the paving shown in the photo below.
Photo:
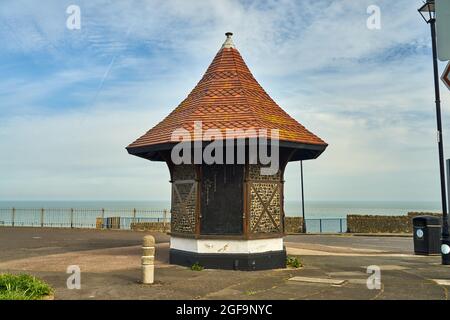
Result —
[[0, 274], [0, 300], [39, 300], [52, 293], [47, 283], [28, 274]]

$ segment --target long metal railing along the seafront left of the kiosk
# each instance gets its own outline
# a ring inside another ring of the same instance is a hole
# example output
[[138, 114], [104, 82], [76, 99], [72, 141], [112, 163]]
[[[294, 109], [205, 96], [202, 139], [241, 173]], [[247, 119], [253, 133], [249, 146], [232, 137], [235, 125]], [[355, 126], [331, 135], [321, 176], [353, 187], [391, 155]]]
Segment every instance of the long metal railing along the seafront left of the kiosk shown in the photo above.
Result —
[[170, 223], [168, 210], [0, 208], [0, 226], [131, 229], [137, 222]]

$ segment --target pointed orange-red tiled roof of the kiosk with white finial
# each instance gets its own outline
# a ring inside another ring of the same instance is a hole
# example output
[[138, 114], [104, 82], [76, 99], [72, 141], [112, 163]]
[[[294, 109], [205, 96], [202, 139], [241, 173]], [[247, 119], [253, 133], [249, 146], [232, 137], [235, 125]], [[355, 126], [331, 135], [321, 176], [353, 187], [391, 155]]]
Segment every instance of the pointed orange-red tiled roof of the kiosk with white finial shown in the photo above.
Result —
[[193, 136], [194, 121], [202, 121], [203, 130], [219, 129], [224, 136], [226, 129], [278, 129], [280, 141], [326, 146], [264, 91], [234, 47], [230, 33], [187, 98], [127, 149], [172, 143], [177, 128]]

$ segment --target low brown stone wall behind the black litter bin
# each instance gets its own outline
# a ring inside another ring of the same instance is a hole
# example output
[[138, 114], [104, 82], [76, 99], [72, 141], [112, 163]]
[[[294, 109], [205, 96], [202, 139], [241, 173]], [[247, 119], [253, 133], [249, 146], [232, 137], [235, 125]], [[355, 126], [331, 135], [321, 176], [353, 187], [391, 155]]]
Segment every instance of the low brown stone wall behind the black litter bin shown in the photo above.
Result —
[[404, 216], [347, 215], [347, 232], [351, 233], [412, 233], [412, 218], [438, 213], [409, 212]]

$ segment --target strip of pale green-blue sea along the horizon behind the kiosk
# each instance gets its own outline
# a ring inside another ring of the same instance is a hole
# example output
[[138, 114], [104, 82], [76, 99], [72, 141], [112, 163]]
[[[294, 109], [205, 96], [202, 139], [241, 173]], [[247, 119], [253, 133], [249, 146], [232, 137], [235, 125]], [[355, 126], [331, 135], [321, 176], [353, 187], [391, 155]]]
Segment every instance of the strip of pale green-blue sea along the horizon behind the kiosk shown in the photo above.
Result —
[[[77, 208], [77, 209], [170, 209], [169, 200], [158, 201], [0, 201], [7, 208]], [[439, 212], [437, 201], [305, 201], [307, 219], [345, 218], [348, 214], [406, 215], [408, 212]], [[286, 216], [301, 216], [302, 205], [285, 202]]]

